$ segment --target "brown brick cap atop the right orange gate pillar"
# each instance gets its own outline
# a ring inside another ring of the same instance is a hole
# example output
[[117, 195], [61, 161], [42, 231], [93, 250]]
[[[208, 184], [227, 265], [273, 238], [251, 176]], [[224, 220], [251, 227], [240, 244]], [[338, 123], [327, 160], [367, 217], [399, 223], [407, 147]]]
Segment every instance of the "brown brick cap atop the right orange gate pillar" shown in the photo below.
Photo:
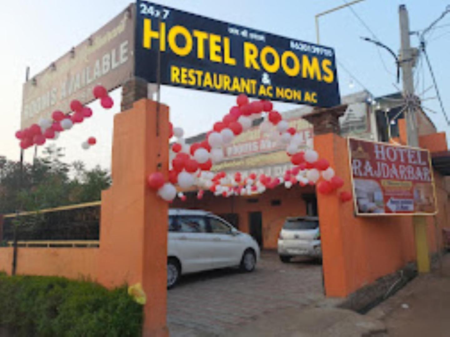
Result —
[[339, 134], [341, 131], [339, 117], [344, 115], [346, 110], [347, 104], [331, 108], [315, 108], [311, 113], [304, 115], [303, 118], [313, 124], [315, 136], [326, 133]]

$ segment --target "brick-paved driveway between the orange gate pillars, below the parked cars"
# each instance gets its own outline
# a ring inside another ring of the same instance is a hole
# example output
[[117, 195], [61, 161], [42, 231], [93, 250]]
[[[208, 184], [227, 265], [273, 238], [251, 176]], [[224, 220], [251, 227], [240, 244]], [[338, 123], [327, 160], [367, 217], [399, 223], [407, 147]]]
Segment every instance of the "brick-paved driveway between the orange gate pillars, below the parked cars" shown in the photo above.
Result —
[[324, 299], [322, 266], [308, 260], [285, 264], [263, 252], [257, 269], [187, 275], [167, 295], [171, 336], [213, 336], [260, 315], [305, 307]]

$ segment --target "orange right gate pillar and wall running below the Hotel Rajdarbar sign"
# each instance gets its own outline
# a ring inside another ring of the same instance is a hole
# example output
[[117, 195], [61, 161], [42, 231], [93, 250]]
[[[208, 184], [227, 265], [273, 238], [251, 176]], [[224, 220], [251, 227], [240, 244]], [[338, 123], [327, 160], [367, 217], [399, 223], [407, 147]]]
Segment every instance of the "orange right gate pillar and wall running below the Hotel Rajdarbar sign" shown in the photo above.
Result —
[[[315, 136], [314, 146], [344, 179], [343, 190], [351, 191], [347, 140], [330, 133]], [[435, 179], [438, 186], [444, 185], [436, 172]], [[439, 207], [447, 205], [445, 190], [438, 191], [438, 198]], [[353, 203], [342, 203], [336, 195], [318, 193], [317, 200], [327, 296], [346, 297], [415, 260], [412, 217], [356, 217]], [[448, 226], [448, 219], [448, 211], [437, 216], [440, 227]], [[433, 216], [427, 221], [429, 248], [436, 252], [440, 233], [437, 237]]]

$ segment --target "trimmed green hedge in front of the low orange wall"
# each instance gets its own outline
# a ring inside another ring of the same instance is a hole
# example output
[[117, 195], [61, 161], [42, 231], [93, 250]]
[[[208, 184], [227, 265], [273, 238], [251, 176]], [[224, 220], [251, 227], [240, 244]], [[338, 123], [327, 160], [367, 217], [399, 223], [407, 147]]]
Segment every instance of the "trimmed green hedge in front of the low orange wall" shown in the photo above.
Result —
[[0, 327], [14, 336], [139, 336], [142, 320], [125, 286], [0, 275]]

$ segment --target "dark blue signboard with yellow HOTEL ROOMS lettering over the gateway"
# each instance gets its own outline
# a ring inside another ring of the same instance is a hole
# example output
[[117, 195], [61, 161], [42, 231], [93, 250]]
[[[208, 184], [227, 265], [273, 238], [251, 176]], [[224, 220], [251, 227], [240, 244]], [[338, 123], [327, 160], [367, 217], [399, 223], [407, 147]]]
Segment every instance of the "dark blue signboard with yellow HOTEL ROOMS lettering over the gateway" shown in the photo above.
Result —
[[[159, 62], [158, 62], [159, 57]], [[135, 75], [311, 106], [340, 104], [334, 50], [137, 1]]]

